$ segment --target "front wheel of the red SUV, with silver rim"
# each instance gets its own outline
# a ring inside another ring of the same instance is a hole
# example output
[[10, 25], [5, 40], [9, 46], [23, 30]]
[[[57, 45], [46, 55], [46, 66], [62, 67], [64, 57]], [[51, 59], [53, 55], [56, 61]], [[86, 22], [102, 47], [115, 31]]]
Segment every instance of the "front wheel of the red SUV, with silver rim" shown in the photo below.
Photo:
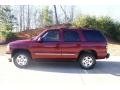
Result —
[[26, 68], [31, 61], [31, 57], [27, 52], [18, 52], [13, 56], [13, 62], [18, 68]]

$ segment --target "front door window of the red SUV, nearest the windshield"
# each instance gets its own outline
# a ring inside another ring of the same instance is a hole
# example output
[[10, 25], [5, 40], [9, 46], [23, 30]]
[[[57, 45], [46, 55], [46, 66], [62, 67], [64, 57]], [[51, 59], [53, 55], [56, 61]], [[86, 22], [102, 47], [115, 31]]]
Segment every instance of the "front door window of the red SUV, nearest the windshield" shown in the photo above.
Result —
[[46, 32], [42, 37], [42, 41], [59, 41], [59, 31], [52, 30]]

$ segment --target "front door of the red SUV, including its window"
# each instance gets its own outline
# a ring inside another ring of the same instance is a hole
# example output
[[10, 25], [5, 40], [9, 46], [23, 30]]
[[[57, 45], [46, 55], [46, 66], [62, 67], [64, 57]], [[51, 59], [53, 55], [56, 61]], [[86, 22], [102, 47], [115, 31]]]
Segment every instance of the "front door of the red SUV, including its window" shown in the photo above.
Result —
[[36, 48], [34, 48], [35, 58], [56, 59], [61, 57], [60, 31], [48, 30], [42, 36]]

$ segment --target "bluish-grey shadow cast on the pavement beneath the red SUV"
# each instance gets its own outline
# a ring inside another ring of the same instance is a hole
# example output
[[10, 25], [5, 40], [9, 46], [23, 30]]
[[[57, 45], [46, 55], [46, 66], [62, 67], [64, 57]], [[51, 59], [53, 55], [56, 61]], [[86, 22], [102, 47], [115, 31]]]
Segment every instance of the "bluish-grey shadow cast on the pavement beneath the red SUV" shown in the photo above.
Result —
[[120, 76], [120, 62], [97, 61], [94, 69], [81, 69], [76, 62], [34, 62], [28, 70], [72, 73], [72, 74], [112, 74]]

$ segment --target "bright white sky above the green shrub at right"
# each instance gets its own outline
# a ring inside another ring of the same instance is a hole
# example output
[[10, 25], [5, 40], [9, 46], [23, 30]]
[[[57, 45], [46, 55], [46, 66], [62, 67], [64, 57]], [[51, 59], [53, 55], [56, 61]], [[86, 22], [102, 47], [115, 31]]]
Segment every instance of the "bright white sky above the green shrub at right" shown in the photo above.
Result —
[[110, 16], [120, 21], [120, 5], [79, 5], [76, 8], [76, 14], [80, 12], [95, 16]]

